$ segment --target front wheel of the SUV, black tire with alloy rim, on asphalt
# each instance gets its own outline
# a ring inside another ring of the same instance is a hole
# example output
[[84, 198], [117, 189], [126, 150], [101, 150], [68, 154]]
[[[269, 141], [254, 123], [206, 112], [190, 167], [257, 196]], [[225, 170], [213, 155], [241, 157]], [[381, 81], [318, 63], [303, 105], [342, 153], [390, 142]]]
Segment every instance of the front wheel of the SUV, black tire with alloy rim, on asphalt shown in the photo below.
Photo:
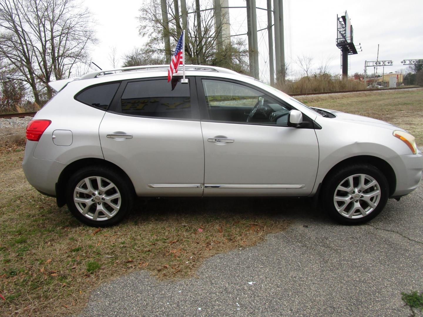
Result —
[[[362, 180], [363, 185], [360, 185]], [[370, 187], [366, 189], [366, 186]], [[324, 209], [332, 219], [348, 225], [363, 224], [376, 217], [385, 207], [388, 196], [385, 175], [370, 164], [342, 167], [327, 176], [322, 188]]]

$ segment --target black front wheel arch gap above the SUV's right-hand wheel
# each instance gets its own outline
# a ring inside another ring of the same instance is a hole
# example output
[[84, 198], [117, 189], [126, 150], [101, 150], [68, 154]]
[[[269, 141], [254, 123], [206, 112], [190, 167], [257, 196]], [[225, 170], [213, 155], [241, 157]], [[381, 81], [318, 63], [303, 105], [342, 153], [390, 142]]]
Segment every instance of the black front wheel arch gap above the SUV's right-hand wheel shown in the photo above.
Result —
[[[333, 173], [345, 166], [350, 164], [371, 164], [377, 167], [386, 177], [389, 185], [389, 197], [393, 195], [396, 189], [396, 175], [393, 168], [390, 164], [382, 158], [370, 155], [360, 155], [360, 156], [352, 156], [349, 158], [340, 161], [338, 164], [333, 166], [325, 175], [322, 180], [322, 184], [325, 184], [328, 179], [333, 175]], [[320, 196], [320, 195], [319, 195]]]

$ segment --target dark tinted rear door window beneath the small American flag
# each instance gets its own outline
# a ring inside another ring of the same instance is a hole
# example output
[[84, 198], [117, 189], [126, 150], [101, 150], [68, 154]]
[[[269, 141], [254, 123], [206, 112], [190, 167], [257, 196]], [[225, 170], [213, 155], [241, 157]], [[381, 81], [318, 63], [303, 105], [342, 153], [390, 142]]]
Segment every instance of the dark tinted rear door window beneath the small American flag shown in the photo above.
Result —
[[128, 82], [121, 98], [122, 113], [159, 118], [192, 118], [190, 84], [167, 79]]

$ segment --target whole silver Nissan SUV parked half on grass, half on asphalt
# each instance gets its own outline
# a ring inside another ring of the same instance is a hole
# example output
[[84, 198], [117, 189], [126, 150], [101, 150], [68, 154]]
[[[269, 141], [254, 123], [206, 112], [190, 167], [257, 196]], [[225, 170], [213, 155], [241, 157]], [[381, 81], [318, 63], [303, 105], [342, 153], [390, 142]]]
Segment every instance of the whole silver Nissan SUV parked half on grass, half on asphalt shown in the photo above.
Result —
[[[310, 108], [225, 68], [95, 72], [58, 93], [27, 126], [29, 183], [91, 226], [121, 221], [134, 199], [318, 197], [335, 220], [374, 218], [420, 182], [415, 139], [389, 123]], [[177, 74], [179, 75], [179, 74]]]

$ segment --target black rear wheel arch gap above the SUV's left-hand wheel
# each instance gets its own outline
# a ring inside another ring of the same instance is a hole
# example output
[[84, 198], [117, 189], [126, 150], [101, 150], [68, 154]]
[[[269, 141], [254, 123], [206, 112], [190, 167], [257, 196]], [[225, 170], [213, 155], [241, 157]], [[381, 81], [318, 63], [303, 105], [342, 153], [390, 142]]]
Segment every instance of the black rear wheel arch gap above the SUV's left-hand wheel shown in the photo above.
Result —
[[81, 158], [67, 165], [63, 169], [63, 171], [60, 173], [58, 182], [56, 183], [56, 200], [57, 200], [57, 205], [59, 207], [62, 207], [66, 204], [66, 197], [65, 197], [66, 180], [69, 179], [70, 175], [77, 172], [77, 170], [89, 165], [107, 167], [109, 169], [114, 169], [115, 171], [119, 172], [124, 178], [126, 178], [128, 183], [132, 186], [133, 192], [135, 193], [134, 184], [132, 183], [131, 178], [126, 174], [126, 172], [123, 169], [118, 167], [116, 164], [113, 164], [112, 162], [106, 161], [102, 158]]

